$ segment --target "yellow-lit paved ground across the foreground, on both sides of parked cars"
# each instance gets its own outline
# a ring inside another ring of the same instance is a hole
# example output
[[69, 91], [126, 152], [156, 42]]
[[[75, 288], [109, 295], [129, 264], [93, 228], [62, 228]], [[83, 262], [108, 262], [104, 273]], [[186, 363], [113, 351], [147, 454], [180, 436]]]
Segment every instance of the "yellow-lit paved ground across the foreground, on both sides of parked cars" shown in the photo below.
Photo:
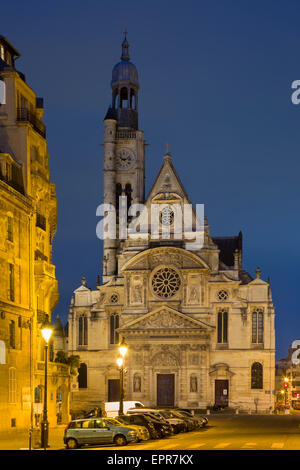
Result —
[[[63, 450], [64, 426], [50, 430], [50, 449]], [[0, 440], [0, 449], [24, 449], [27, 436], [11, 435]], [[199, 431], [167, 439], [97, 446], [82, 450], [300, 450], [300, 416], [210, 415], [209, 425]], [[80, 449], [81, 450], [81, 449]], [[71, 452], [71, 451], [70, 451]]]

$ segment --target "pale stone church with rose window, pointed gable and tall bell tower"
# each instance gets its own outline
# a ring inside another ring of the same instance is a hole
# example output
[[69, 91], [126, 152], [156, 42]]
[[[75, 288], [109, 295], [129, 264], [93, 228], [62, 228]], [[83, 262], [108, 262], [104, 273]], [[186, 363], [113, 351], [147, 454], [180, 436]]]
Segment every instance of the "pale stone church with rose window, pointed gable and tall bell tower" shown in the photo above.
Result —
[[173, 207], [190, 201], [168, 151], [145, 197], [138, 72], [126, 36], [111, 89], [104, 119], [104, 202], [116, 207], [117, 216], [122, 195], [128, 207], [155, 207], [162, 230], [159, 238], [144, 229], [123, 240], [105, 239], [102, 283], [92, 289], [83, 278], [74, 291], [67, 350], [79, 354], [82, 364], [71, 409], [119, 400], [116, 359], [124, 338], [125, 400], [151, 407], [267, 410], [275, 389], [270, 284], [259, 268], [253, 277], [243, 268], [241, 233], [214, 237], [205, 217], [202, 247], [193, 249], [184, 236], [174, 236]]

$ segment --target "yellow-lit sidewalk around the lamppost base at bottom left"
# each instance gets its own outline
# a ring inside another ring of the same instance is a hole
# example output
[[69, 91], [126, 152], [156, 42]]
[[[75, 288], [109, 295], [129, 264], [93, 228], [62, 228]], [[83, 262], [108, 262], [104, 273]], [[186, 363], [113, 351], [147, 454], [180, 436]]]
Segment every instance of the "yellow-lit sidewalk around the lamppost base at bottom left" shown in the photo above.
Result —
[[[64, 449], [64, 430], [66, 425], [58, 425], [49, 429], [49, 450]], [[32, 441], [33, 442], [33, 441]], [[34, 449], [32, 445], [32, 450]], [[0, 433], [0, 450], [28, 450], [29, 449], [29, 430], [28, 431], [8, 431]]]

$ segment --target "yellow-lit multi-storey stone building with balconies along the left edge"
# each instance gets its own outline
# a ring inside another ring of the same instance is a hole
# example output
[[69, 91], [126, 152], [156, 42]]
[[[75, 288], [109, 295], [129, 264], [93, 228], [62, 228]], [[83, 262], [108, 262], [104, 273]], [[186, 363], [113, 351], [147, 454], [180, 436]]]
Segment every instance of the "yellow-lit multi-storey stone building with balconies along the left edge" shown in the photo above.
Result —
[[[43, 100], [15, 67], [20, 54], [0, 36], [0, 431], [41, 418], [44, 388], [42, 323], [58, 302], [52, 264], [55, 185]], [[69, 368], [49, 363], [49, 421], [68, 416]]]

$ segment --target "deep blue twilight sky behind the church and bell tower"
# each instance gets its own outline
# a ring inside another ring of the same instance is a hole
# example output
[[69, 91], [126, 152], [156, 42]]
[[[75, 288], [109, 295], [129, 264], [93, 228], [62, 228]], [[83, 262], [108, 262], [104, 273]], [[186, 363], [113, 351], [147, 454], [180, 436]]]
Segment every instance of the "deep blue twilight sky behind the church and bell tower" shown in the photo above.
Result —
[[122, 32], [141, 90], [149, 190], [165, 143], [212, 235], [244, 236], [244, 268], [271, 277], [277, 357], [300, 336], [300, 3], [289, 0], [14, 0], [1, 31], [17, 68], [44, 97], [57, 186], [54, 264], [66, 320], [81, 276], [95, 286], [101, 246], [103, 118]]

